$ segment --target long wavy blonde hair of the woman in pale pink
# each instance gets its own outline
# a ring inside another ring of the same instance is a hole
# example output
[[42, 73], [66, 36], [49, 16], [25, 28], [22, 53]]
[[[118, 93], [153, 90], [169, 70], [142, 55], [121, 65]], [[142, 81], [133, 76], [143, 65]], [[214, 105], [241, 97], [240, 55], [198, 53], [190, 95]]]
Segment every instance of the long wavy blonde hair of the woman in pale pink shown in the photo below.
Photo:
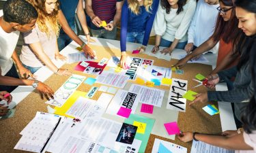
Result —
[[36, 23], [38, 24], [38, 28], [43, 33], [46, 33], [48, 37], [51, 35], [59, 35], [59, 19], [58, 19], [58, 11], [59, 11], [59, 0], [56, 2], [55, 10], [48, 14], [45, 10], [46, 0], [27, 0], [35, 10], [38, 11], [38, 20]]

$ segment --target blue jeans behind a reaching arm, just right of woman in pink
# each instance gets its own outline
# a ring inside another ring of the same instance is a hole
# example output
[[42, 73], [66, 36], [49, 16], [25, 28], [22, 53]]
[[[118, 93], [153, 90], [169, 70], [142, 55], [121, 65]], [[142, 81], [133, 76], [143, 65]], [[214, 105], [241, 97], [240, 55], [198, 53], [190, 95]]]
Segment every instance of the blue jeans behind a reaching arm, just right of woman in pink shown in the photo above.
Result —
[[[77, 33], [75, 25], [70, 28], [74, 31], [74, 33]], [[61, 29], [61, 33], [59, 33], [59, 37], [57, 41], [58, 41], [58, 48], [60, 52], [61, 50], [63, 50], [63, 48], [65, 48], [66, 46], [68, 46], [68, 44], [71, 43], [72, 39]]]

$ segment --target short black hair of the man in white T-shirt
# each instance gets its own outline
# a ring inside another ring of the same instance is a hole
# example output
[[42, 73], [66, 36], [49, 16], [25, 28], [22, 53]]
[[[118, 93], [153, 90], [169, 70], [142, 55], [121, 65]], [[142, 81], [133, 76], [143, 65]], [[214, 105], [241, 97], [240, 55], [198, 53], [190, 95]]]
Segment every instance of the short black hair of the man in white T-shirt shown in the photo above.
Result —
[[8, 0], [3, 4], [3, 20], [24, 25], [38, 18], [33, 5], [25, 0]]

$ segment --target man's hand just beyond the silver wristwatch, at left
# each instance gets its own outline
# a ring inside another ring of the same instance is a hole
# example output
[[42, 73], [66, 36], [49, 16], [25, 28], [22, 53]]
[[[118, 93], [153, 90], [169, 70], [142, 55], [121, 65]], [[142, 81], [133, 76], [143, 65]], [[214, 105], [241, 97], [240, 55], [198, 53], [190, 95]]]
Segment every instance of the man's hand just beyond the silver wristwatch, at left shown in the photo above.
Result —
[[54, 92], [53, 90], [47, 86], [46, 84], [39, 82], [38, 81], [38, 87], [36, 87], [36, 90], [40, 93], [41, 99], [44, 99], [44, 97], [49, 101], [50, 98], [54, 99], [53, 95]]

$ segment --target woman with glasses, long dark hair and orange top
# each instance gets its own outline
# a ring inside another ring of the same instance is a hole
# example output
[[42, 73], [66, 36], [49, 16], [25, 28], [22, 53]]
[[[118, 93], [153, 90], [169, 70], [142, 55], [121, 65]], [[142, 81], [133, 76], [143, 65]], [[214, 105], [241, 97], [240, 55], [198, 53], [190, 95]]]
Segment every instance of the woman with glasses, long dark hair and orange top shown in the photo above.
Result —
[[208, 52], [216, 46], [218, 41], [218, 58], [216, 68], [211, 74], [218, 73], [223, 69], [228, 69], [238, 64], [239, 54], [236, 54], [236, 44], [244, 34], [238, 29], [238, 19], [236, 18], [236, 10], [232, 0], [219, 0], [220, 7], [217, 8], [219, 16], [216, 22], [214, 34], [191, 54], [178, 61], [174, 67], [182, 68], [186, 63], [203, 52]]

